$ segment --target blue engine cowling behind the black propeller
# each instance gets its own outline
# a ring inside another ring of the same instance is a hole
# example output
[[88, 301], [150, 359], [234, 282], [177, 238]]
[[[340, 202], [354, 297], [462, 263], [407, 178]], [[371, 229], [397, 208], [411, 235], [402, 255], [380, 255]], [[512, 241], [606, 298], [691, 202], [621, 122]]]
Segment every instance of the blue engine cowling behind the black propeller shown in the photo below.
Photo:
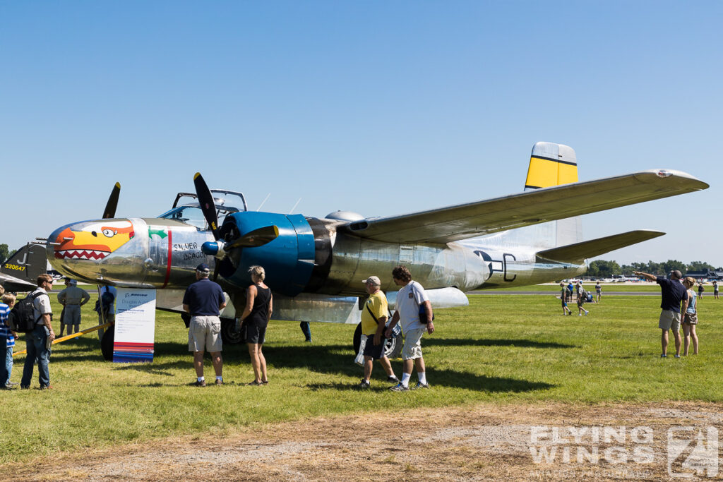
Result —
[[221, 238], [234, 241], [257, 228], [278, 226], [278, 238], [254, 248], [236, 248], [228, 253], [219, 274], [228, 283], [246, 287], [251, 284], [249, 267], [259, 265], [266, 271], [264, 282], [275, 293], [296, 296], [309, 284], [314, 270], [315, 240], [312, 227], [303, 215], [244, 211], [226, 215]]

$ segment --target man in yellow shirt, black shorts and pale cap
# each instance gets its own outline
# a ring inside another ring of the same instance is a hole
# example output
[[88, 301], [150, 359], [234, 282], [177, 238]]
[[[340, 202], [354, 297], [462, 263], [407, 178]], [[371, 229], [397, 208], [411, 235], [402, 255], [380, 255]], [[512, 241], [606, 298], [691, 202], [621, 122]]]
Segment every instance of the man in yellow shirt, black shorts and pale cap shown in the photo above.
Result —
[[367, 285], [369, 298], [361, 311], [361, 334], [367, 335], [367, 344], [364, 346], [364, 378], [359, 383], [361, 390], [369, 388], [369, 379], [372, 378], [372, 366], [374, 360], [378, 360], [384, 371], [387, 372], [388, 382], [398, 382], [394, 375], [392, 364], [384, 354], [384, 347], [387, 339], [384, 337], [384, 329], [389, 318], [389, 307], [387, 297], [382, 293], [382, 282], [376, 276], [369, 276], [362, 281]]

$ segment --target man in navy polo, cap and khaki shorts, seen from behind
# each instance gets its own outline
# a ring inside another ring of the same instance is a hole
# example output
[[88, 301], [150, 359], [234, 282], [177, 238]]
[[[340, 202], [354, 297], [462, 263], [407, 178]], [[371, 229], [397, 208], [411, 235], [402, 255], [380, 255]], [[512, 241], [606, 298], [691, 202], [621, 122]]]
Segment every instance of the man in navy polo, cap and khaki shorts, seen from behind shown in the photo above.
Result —
[[216, 384], [223, 384], [221, 376], [221, 310], [226, 307], [226, 296], [221, 285], [208, 279], [210, 268], [202, 263], [196, 267], [196, 283], [186, 289], [183, 297], [183, 309], [191, 314], [188, 330], [188, 349], [193, 352], [193, 365], [196, 369], [195, 387], [205, 387], [203, 376], [203, 352], [211, 353], [213, 369], [216, 372]]

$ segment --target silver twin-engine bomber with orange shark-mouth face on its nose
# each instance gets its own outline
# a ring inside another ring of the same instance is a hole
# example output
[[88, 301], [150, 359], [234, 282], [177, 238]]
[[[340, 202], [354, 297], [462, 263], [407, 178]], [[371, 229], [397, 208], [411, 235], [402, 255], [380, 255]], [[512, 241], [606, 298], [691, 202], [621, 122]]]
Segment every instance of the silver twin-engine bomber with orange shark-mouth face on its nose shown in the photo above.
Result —
[[[466, 291], [574, 277], [586, 259], [662, 236], [630, 231], [583, 241], [579, 215], [706, 189], [680, 171], [641, 171], [578, 182], [565, 145], [538, 142], [520, 194], [384, 218], [333, 212], [326, 218], [247, 210], [242, 194], [210, 191], [200, 174], [197, 199], [160, 218], [114, 218], [119, 185], [102, 220], [64, 225], [48, 238], [59, 272], [89, 283], [157, 288], [160, 309], [181, 312], [200, 262], [233, 301], [223, 335], [244, 307], [248, 269], [260, 264], [274, 293], [274, 319], [358, 323], [361, 280], [377, 275], [393, 309], [393, 267], [406, 265], [432, 306], [468, 304]], [[241, 205], [226, 205], [229, 194]], [[183, 193], [179, 194], [179, 196]], [[219, 225], [219, 217], [223, 222]]]

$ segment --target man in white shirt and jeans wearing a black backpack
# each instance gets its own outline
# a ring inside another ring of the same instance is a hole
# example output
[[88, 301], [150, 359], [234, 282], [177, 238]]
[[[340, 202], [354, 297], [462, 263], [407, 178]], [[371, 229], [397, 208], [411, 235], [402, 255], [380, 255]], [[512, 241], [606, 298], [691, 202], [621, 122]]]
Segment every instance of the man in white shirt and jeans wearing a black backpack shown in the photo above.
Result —
[[33, 366], [38, 361], [38, 380], [40, 390], [51, 388], [50, 371], [50, 344], [55, 340], [52, 320], [53, 310], [50, 306], [48, 290], [53, 288], [53, 277], [51, 275], [38, 276], [38, 289], [28, 295], [33, 301], [33, 320], [35, 321], [33, 331], [25, 334], [27, 354], [25, 366], [22, 369], [20, 388], [30, 388], [30, 379], [33, 378]]

